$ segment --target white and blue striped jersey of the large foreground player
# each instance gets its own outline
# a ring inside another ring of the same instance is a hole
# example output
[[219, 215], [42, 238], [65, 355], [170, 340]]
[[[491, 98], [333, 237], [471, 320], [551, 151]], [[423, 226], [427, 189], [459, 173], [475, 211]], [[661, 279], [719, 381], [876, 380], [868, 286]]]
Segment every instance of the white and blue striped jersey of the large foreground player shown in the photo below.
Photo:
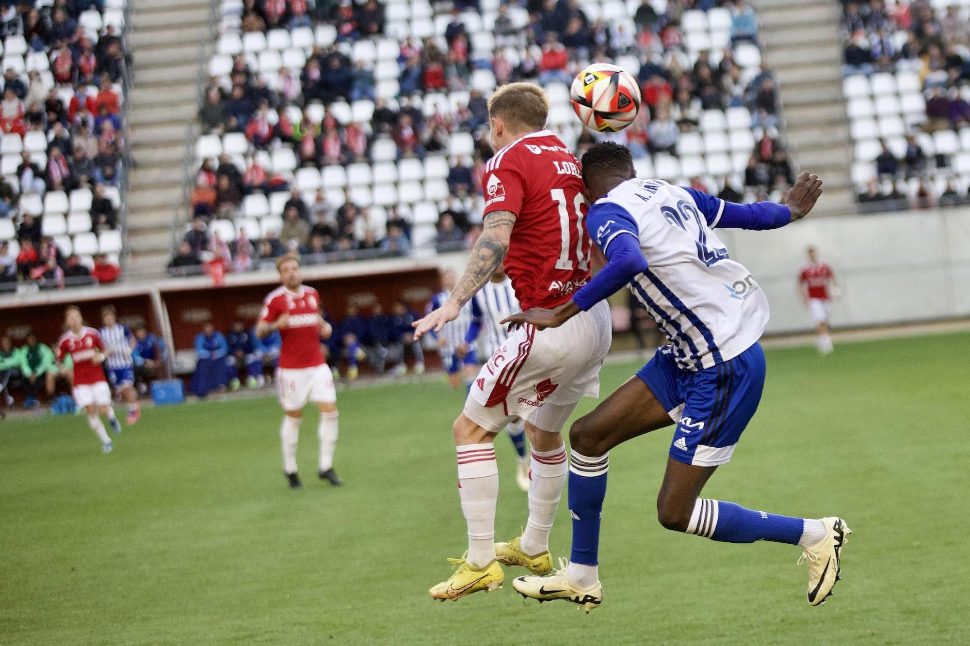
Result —
[[725, 203], [659, 179], [629, 179], [600, 198], [599, 246], [639, 240], [647, 269], [628, 287], [673, 344], [686, 370], [711, 368], [744, 352], [768, 322], [768, 301], [713, 229]]

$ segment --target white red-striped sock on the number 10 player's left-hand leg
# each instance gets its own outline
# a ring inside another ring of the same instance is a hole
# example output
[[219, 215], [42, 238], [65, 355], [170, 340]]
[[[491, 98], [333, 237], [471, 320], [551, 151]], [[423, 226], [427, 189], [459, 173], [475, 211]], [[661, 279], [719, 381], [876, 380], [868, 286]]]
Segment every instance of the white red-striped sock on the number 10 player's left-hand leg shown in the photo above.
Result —
[[499, 465], [492, 442], [458, 448], [458, 495], [469, 525], [469, 556], [473, 567], [495, 560], [495, 507], [499, 501]]

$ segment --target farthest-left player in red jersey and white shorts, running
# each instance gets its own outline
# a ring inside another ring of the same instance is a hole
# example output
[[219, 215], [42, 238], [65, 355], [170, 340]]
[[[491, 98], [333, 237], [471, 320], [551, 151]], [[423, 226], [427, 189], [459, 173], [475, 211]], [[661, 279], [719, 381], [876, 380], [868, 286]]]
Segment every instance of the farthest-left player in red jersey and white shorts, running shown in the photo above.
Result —
[[[101, 366], [105, 361], [105, 343], [97, 330], [84, 326], [78, 307], [71, 306], [64, 310], [64, 323], [67, 332], [57, 340], [57, 362], [61, 364], [61, 373], [71, 379], [75, 404], [87, 413], [87, 425], [101, 440], [104, 452], [109, 453], [112, 439], [105, 432], [105, 425], [101, 423], [98, 413], [108, 418], [114, 435], [121, 433], [121, 423], [114, 416], [112, 391]], [[69, 355], [74, 364], [73, 375], [63, 366], [64, 359]]]

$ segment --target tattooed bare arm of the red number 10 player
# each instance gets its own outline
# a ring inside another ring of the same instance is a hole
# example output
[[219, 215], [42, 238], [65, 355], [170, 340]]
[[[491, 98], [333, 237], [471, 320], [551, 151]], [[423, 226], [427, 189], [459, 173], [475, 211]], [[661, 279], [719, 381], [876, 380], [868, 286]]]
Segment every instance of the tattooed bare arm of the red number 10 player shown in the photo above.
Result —
[[440, 332], [445, 323], [458, 318], [462, 306], [489, 281], [504, 260], [515, 219], [515, 213], [510, 210], [496, 210], [485, 215], [484, 228], [471, 249], [465, 274], [444, 305], [413, 323], [414, 339], [421, 339], [428, 332]]

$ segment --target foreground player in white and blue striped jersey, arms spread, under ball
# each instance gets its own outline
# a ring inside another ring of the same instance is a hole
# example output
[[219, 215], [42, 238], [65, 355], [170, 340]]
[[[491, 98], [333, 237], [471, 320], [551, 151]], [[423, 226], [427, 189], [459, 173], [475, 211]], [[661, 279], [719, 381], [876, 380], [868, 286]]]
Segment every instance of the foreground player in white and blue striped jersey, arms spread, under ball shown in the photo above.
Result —
[[764, 386], [759, 339], [768, 322], [764, 292], [728, 256], [714, 228], [783, 227], [815, 206], [822, 181], [802, 173], [788, 206], [732, 204], [665, 181], [637, 179], [630, 150], [611, 143], [583, 155], [583, 174], [593, 203], [587, 225], [596, 232], [606, 266], [565, 304], [532, 309], [507, 322], [556, 329], [629, 285], [670, 345], [572, 425], [571, 560], [563, 559], [552, 576], [519, 577], [513, 586], [524, 597], [566, 599], [587, 612], [598, 607], [608, 452], [674, 422], [657, 499], [661, 525], [730, 543], [797, 545], [803, 550], [798, 563], [809, 564], [808, 602], [822, 603], [839, 578], [840, 550], [851, 533], [841, 518], [782, 516], [699, 497], [715, 469], [730, 460], [758, 408]]

